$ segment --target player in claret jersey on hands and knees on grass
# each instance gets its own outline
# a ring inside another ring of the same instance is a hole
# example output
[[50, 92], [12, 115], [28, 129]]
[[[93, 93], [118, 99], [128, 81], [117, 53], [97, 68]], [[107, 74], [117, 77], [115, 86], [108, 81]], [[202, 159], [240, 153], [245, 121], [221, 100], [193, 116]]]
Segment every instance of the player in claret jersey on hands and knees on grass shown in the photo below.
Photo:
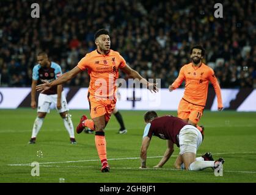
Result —
[[174, 144], [180, 147], [180, 155], [175, 161], [175, 168], [189, 171], [200, 171], [205, 168], [220, 169], [223, 158], [213, 160], [210, 152], [196, 158], [196, 152], [203, 140], [203, 132], [175, 116], [158, 117], [155, 111], [148, 111], [144, 115], [147, 123], [144, 129], [141, 146], [141, 167], [147, 168], [147, 149], [152, 136], [167, 140], [167, 149], [164, 157], [154, 168], [161, 168], [174, 152]]

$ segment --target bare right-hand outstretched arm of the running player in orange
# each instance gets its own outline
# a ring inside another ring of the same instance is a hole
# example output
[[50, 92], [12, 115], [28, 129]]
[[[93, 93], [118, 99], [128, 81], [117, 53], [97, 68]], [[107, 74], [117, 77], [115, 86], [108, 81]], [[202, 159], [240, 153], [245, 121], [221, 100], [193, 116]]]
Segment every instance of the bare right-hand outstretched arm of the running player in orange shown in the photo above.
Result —
[[134, 69], [132, 69], [130, 66], [126, 65], [125, 67], [121, 68], [121, 70], [126, 73], [128, 75], [129, 78], [133, 78], [133, 79], [139, 79], [139, 81], [147, 86], [148, 90], [150, 90], [150, 92], [158, 92], [159, 89], [156, 87], [157, 83], [150, 83], [147, 82], [146, 79], [144, 79], [141, 74], [139, 74], [137, 71], [134, 71]]

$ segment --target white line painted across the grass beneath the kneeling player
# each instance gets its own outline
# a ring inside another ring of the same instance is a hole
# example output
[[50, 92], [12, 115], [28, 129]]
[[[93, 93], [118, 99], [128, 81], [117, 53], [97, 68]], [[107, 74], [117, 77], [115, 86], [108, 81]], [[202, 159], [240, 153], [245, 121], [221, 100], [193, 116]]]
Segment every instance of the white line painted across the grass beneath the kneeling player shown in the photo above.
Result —
[[[256, 151], [252, 152], [222, 152], [222, 153], [213, 153], [213, 155], [222, 155], [222, 154], [254, 154]], [[172, 157], [177, 157], [178, 155], [172, 155]], [[147, 158], [162, 158], [163, 156], [156, 156], [156, 157], [147, 157]], [[135, 160], [141, 159], [140, 157], [126, 157], [126, 158], [109, 158], [108, 160]], [[87, 162], [87, 161], [100, 161], [98, 159], [92, 160], [73, 160], [73, 161], [55, 161], [55, 162], [45, 162], [39, 163], [40, 165], [47, 165], [47, 164], [57, 164], [57, 163], [78, 163], [78, 162]], [[23, 163], [23, 164], [10, 164], [9, 166], [31, 166], [31, 163]]]

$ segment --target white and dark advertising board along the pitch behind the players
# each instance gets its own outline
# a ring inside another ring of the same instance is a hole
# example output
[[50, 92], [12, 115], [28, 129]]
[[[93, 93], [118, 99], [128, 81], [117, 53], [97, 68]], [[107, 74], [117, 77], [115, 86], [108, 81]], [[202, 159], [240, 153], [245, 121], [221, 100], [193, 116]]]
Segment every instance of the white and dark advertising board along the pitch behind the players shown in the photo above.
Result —
[[[70, 109], [89, 109], [88, 88], [64, 88]], [[0, 88], [0, 108], [30, 107], [31, 88]], [[177, 110], [184, 89], [169, 92], [161, 88], [160, 93], [152, 94], [147, 89], [119, 88], [117, 108], [120, 110]], [[222, 89], [222, 101], [226, 110], [239, 112], [256, 111], [256, 90]], [[208, 91], [205, 109], [217, 110], [214, 90]]]

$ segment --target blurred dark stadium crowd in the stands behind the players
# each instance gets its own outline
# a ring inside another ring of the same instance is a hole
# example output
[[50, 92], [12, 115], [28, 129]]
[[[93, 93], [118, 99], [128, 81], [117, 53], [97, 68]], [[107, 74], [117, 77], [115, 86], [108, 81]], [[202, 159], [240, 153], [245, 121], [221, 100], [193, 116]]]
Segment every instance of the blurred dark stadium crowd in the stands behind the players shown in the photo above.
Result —
[[[36, 54], [44, 50], [68, 71], [95, 49], [93, 34], [109, 29], [111, 49], [147, 78], [168, 87], [190, 61], [194, 44], [222, 88], [256, 88], [256, 1], [218, 1], [224, 18], [214, 18], [214, 1], [0, 1], [1, 87], [31, 85]], [[122, 74], [120, 75], [123, 76]], [[65, 86], [88, 87], [87, 73]]]

